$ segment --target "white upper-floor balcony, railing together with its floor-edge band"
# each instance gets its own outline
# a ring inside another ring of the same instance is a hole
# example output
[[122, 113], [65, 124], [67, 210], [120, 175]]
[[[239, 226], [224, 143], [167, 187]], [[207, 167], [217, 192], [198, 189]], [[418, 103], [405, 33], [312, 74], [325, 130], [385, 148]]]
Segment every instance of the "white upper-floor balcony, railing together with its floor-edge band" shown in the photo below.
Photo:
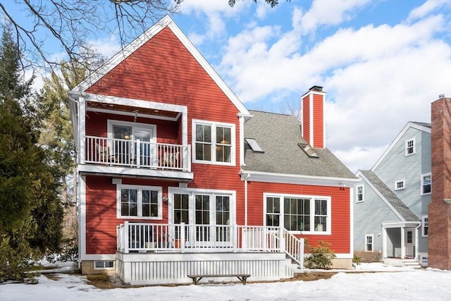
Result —
[[186, 178], [191, 172], [190, 145], [85, 136], [80, 171]]

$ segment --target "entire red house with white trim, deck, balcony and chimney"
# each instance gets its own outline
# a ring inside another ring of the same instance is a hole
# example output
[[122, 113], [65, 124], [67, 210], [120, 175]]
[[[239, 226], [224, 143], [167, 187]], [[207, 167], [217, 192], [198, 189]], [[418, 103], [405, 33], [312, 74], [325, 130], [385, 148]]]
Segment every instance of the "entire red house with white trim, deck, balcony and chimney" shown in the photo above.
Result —
[[302, 269], [302, 238], [350, 268], [356, 178], [326, 149], [325, 94], [304, 94], [302, 126], [248, 111], [163, 18], [69, 92], [82, 273], [278, 280]]

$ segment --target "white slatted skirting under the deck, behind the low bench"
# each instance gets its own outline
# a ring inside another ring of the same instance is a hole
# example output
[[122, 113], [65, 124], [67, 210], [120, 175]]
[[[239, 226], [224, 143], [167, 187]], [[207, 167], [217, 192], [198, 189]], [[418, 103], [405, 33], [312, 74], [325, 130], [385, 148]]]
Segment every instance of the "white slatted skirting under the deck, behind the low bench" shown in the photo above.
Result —
[[[277, 281], [294, 275], [285, 253], [122, 253], [116, 270], [131, 285], [192, 283], [194, 274], [251, 274], [252, 281]], [[208, 281], [203, 280], [203, 281]], [[237, 281], [235, 277], [215, 281]]]

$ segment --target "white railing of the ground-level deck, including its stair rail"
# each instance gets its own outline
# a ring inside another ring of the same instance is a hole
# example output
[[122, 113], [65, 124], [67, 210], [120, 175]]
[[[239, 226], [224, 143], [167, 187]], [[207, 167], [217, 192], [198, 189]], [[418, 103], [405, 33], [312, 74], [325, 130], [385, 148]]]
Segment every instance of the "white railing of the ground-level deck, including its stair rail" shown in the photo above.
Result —
[[303, 266], [304, 239], [285, 228], [185, 223], [117, 226], [117, 250], [129, 252], [285, 252]]

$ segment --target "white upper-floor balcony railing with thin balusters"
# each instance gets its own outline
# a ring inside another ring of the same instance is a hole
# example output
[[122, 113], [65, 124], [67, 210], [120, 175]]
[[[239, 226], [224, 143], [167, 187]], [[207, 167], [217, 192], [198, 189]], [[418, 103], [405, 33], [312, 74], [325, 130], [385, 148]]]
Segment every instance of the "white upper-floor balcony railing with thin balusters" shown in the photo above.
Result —
[[190, 171], [190, 146], [86, 136], [85, 163]]

